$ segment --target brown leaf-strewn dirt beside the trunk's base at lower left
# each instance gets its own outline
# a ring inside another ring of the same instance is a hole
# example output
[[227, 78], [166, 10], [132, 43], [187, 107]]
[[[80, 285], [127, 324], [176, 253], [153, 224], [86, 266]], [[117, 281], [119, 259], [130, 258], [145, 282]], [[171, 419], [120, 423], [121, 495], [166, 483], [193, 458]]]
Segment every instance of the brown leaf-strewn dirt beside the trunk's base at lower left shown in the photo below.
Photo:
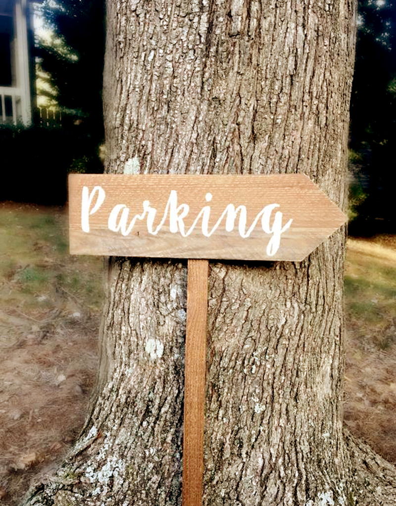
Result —
[[33, 476], [53, 468], [83, 425], [98, 318], [0, 313], [2, 323], [10, 320], [20, 336], [3, 347], [0, 365], [0, 497], [11, 505]]

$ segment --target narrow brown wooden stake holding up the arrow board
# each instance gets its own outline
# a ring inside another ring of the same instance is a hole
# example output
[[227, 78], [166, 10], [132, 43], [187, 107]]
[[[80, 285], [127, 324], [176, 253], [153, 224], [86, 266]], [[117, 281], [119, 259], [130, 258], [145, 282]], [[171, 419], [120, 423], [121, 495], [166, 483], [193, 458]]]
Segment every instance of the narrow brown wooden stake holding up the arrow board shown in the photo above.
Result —
[[184, 370], [183, 506], [201, 506], [204, 472], [208, 260], [188, 260]]

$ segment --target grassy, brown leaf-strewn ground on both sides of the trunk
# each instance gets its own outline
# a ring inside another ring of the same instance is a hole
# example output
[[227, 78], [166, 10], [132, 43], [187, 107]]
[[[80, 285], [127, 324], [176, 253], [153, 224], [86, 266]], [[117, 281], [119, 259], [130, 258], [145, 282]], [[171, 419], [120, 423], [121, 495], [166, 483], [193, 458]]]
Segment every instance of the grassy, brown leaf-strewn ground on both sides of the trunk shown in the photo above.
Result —
[[[68, 255], [66, 230], [64, 209], [0, 204], [4, 506], [67, 453], [95, 381], [101, 267]], [[346, 273], [345, 423], [396, 463], [396, 239], [352, 241]]]

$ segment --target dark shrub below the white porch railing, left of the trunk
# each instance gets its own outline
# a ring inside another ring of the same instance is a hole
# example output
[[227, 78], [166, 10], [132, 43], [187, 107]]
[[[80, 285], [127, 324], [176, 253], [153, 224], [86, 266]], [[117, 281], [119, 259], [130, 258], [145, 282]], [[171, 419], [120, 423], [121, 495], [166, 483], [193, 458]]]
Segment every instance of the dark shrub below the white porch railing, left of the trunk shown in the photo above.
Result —
[[63, 205], [70, 172], [103, 172], [101, 143], [82, 125], [0, 125], [2, 166], [7, 173], [0, 200]]

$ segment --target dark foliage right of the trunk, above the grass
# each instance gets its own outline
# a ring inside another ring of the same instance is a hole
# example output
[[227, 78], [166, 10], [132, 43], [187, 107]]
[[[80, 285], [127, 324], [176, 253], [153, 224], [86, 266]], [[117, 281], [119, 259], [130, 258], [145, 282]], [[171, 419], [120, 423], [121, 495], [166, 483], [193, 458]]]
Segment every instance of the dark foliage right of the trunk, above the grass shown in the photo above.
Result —
[[395, 233], [396, 9], [359, 0], [351, 98], [350, 234]]

